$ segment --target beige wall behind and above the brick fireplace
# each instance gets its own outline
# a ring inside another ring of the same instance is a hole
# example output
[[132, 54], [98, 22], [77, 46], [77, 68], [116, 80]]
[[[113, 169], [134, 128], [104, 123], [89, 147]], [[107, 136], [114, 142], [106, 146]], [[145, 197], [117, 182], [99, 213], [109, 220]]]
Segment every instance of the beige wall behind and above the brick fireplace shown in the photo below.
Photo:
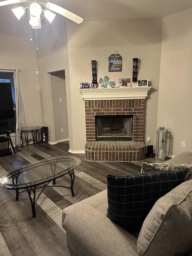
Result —
[[[141, 60], [138, 79], [149, 79], [146, 99], [146, 136], [155, 143], [158, 113], [158, 87], [161, 61], [162, 19], [103, 20], [81, 24], [67, 23], [73, 144], [71, 151], [85, 149], [85, 107], [79, 92], [81, 82], [92, 81], [91, 60], [97, 60], [98, 79], [108, 75], [132, 78], [133, 58]], [[122, 56], [122, 72], [108, 72], [108, 57]], [[131, 86], [137, 86], [132, 83]], [[147, 143], [146, 143], [147, 144]]]

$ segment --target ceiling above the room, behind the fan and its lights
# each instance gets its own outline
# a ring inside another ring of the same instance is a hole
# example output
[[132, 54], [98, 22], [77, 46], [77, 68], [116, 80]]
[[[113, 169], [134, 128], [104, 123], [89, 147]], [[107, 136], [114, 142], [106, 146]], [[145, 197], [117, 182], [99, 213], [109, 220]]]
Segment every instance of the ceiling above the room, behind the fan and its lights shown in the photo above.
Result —
[[[79, 15], [84, 21], [164, 17], [192, 7], [192, 0], [45, 0], [44, 3], [48, 1]], [[20, 5], [28, 6], [23, 2], [0, 7], [0, 34], [29, 38], [28, 12], [17, 20], [11, 11], [11, 8]], [[45, 20], [43, 15], [41, 20]], [[38, 29], [38, 35], [69, 21], [57, 14], [51, 24], [41, 24], [42, 28]]]

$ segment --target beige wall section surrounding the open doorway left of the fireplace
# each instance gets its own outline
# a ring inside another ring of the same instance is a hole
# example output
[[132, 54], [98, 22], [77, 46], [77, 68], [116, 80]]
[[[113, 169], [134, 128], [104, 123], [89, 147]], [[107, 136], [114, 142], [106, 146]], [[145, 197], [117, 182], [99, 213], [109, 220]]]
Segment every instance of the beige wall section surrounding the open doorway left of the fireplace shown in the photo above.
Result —
[[[41, 113], [44, 126], [49, 127], [49, 142], [56, 143], [53, 112], [51, 75], [48, 72], [65, 70], [68, 121], [71, 124], [70, 80], [68, 68], [67, 25], [63, 24], [38, 38], [37, 61], [39, 67], [39, 89]], [[73, 142], [72, 130], [69, 130], [70, 142]]]

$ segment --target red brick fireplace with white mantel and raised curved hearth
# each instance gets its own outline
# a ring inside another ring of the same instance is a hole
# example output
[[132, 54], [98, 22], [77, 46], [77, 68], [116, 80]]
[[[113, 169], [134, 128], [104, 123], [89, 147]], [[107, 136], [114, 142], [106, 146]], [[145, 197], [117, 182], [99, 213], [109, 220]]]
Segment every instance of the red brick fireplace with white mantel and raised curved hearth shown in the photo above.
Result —
[[85, 101], [86, 160], [145, 159], [144, 104], [150, 88], [79, 89]]

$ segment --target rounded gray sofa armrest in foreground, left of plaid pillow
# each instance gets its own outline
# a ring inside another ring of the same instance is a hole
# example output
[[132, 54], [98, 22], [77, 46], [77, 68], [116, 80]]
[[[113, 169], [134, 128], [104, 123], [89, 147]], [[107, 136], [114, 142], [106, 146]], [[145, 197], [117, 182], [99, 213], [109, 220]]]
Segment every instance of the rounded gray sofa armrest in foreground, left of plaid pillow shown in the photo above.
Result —
[[137, 238], [85, 203], [63, 210], [67, 247], [77, 256], [139, 256]]

